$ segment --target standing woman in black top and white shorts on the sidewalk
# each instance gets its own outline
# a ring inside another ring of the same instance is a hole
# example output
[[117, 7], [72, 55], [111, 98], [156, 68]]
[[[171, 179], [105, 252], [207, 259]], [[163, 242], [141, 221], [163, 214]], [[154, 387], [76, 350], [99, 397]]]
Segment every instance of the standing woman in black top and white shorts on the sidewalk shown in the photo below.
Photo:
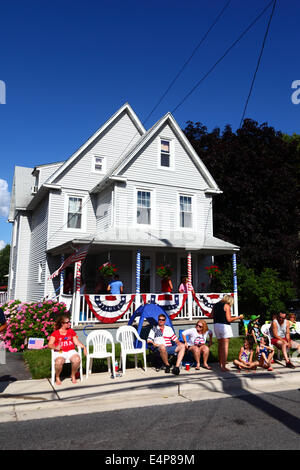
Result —
[[234, 299], [231, 295], [224, 295], [223, 299], [216, 303], [212, 310], [214, 330], [218, 340], [219, 363], [222, 372], [229, 371], [226, 367], [226, 362], [228, 357], [229, 341], [233, 336], [231, 323], [244, 318], [244, 315], [240, 315], [239, 317], [231, 316], [231, 307], [233, 303]]

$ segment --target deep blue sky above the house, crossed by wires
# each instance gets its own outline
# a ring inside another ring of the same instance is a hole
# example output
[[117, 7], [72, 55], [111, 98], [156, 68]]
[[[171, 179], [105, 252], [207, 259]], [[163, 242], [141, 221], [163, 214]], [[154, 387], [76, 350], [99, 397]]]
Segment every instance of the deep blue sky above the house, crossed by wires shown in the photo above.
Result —
[[[230, 2], [147, 129], [176, 108], [268, 3]], [[15, 165], [67, 159], [125, 102], [143, 122], [225, 4], [1, 2], [0, 248], [11, 238], [6, 221]], [[239, 127], [270, 13], [271, 7], [174, 112], [182, 128], [189, 120], [209, 130]], [[298, 0], [277, 1], [246, 112], [288, 134], [300, 134], [300, 104], [291, 99], [292, 83], [300, 80], [299, 18]]]

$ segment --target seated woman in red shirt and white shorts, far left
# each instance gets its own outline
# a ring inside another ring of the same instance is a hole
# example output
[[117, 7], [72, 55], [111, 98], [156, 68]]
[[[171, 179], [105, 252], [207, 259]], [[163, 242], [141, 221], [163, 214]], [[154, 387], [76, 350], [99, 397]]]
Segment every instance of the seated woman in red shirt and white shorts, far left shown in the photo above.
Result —
[[80, 366], [80, 356], [75, 350], [75, 346], [82, 348], [85, 356], [87, 354], [86, 347], [79, 341], [76, 332], [70, 328], [70, 323], [67, 315], [60, 315], [56, 320], [55, 330], [48, 342], [48, 348], [54, 349], [56, 385], [61, 385], [60, 374], [66, 359], [69, 359], [72, 365], [72, 383], [76, 383], [76, 372]]

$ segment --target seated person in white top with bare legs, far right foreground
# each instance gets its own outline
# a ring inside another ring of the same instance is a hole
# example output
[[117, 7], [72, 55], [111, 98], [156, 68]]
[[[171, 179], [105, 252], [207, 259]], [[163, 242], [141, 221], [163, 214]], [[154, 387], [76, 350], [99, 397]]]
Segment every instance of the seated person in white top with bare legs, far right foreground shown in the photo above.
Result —
[[271, 344], [282, 351], [286, 367], [295, 369], [294, 364], [290, 361], [288, 356], [288, 348], [298, 349], [300, 351], [300, 344], [291, 340], [290, 325], [286, 319], [285, 312], [279, 312], [276, 318], [272, 321], [270, 327]]

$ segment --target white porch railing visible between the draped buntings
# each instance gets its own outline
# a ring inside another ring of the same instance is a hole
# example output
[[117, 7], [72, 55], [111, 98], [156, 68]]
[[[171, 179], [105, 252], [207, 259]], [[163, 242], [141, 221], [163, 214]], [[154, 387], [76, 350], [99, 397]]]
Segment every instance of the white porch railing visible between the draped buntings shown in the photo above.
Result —
[[[126, 301], [127, 301], [129, 300], [132, 294], [124, 294], [124, 295], [126, 295]], [[135, 300], [131, 304], [130, 308], [127, 310], [127, 312], [125, 312], [125, 314], [119, 320], [116, 321], [116, 323], [129, 321], [134, 311], [140, 305], [143, 304], [142, 295], [143, 294], [136, 294]], [[184, 294], [178, 294], [180, 305], [183, 301], [183, 295]], [[208, 296], [210, 294], [205, 294], [201, 292], [201, 294], [196, 294], [196, 297], [199, 297], [200, 295]], [[223, 294], [217, 294], [217, 295], [223, 296], [225, 294], [223, 293]], [[86, 302], [85, 296], [80, 295], [78, 296], [78, 299], [79, 299], [79, 308], [72, 308], [72, 296], [71, 295], [60, 296], [60, 301], [65, 302], [67, 304], [67, 307], [70, 308], [70, 310], [74, 312], [73, 318], [72, 318], [73, 326], [86, 325], [86, 324], [100, 324], [101, 322], [94, 315], [93, 311], [90, 309], [88, 303]], [[232, 315], [234, 315], [233, 308], [232, 308]], [[194, 298], [191, 295], [189, 295], [187, 301], [183, 305], [183, 308], [181, 309], [181, 311], [179, 312], [179, 314], [175, 317], [173, 321], [175, 322], [176, 320], [195, 321], [197, 318], [207, 318], [207, 316], [205, 316], [202, 309], [199, 307], [199, 305], [194, 300]]]

